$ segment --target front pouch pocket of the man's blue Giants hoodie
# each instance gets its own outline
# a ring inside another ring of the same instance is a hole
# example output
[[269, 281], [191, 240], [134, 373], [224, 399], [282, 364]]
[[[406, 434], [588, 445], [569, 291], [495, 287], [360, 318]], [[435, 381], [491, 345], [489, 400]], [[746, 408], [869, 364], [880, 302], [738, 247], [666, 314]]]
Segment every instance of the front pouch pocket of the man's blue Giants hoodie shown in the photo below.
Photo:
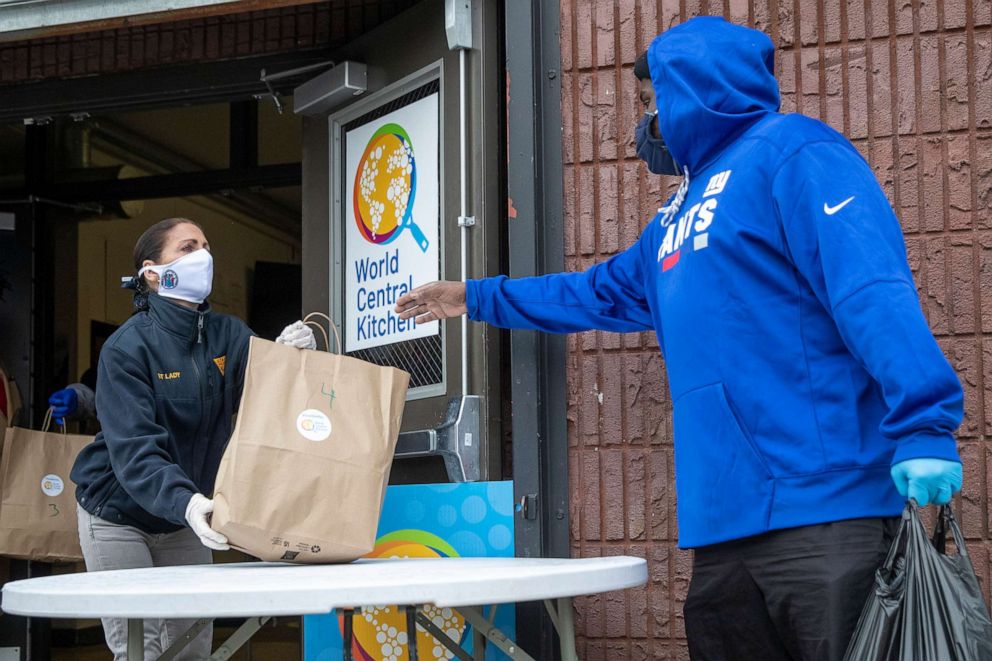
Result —
[[722, 383], [675, 402], [679, 545], [704, 546], [765, 532], [771, 472], [734, 415]]

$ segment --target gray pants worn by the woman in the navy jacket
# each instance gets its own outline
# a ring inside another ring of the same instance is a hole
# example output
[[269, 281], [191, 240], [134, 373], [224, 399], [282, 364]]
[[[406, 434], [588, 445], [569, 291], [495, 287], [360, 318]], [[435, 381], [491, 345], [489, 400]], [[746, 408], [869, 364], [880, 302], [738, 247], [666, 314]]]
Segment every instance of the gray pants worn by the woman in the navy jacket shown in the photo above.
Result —
[[[86, 571], [205, 565], [212, 562], [210, 549], [192, 530], [184, 528], [163, 535], [149, 535], [137, 528], [110, 523], [77, 508], [79, 542]], [[196, 620], [145, 620], [145, 659], [157, 659]], [[104, 618], [103, 631], [114, 661], [127, 659], [127, 620]], [[208, 626], [177, 658], [202, 661], [210, 657], [213, 625]]]

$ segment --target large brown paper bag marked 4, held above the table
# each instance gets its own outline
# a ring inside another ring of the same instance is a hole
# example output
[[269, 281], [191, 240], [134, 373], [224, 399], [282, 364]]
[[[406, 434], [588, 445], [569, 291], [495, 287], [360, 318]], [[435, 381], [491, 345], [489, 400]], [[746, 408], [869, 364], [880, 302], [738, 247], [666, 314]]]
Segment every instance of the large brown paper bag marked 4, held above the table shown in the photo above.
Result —
[[371, 551], [409, 381], [392, 367], [252, 338], [214, 530], [262, 560], [348, 562]]

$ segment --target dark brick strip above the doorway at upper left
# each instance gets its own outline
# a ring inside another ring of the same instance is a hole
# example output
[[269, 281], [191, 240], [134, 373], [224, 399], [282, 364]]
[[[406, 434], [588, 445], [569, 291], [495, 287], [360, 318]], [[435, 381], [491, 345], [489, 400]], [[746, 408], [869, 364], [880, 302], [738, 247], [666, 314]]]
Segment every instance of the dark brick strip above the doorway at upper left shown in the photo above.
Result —
[[0, 85], [347, 43], [414, 0], [319, 4], [0, 43]]

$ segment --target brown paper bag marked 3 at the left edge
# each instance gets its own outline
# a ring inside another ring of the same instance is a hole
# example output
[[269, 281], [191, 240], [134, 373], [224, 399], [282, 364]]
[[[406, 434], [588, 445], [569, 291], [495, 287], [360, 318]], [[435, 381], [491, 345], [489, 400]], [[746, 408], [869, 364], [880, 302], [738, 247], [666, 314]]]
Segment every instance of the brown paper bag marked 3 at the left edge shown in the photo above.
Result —
[[[51, 414], [49, 410], [45, 429]], [[83, 559], [69, 472], [92, 440], [64, 432], [6, 430], [0, 461], [0, 555], [47, 562]]]

